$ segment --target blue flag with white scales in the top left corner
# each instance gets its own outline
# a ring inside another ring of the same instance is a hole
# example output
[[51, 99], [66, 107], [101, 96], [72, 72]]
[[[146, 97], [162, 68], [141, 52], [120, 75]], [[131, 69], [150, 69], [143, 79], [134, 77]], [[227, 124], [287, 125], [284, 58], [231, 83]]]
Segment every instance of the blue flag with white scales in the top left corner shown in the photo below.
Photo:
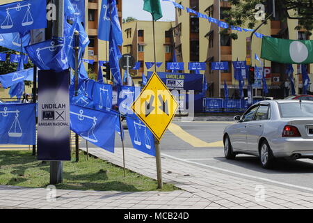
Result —
[[0, 6], [0, 33], [47, 28], [47, 2], [24, 0]]

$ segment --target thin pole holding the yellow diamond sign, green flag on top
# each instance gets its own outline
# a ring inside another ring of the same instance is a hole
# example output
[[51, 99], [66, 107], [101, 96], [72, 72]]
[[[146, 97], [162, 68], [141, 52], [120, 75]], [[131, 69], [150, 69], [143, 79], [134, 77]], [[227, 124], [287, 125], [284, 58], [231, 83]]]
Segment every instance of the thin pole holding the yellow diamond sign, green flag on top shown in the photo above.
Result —
[[[154, 71], [157, 72], [157, 56], [155, 52], [155, 27], [154, 27], [154, 18], [152, 16], [152, 26], [153, 26], [153, 49], [154, 49]], [[157, 162], [157, 179], [158, 179], [158, 189], [163, 188], [163, 180], [162, 180], [162, 165], [161, 165], [161, 148], [160, 141], [154, 139], [154, 147], [156, 151], [156, 162]]]

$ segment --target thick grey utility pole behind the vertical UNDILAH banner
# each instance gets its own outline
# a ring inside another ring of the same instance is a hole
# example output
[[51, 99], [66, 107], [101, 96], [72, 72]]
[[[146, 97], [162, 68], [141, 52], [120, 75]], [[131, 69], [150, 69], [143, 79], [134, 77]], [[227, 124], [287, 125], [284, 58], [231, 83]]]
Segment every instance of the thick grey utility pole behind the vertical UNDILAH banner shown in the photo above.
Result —
[[[53, 22], [52, 36], [63, 38], [64, 26], [64, 0], [55, 0], [56, 21]], [[35, 79], [34, 79], [35, 81]], [[50, 162], [50, 184], [56, 185], [63, 182], [63, 163], [62, 161]]]

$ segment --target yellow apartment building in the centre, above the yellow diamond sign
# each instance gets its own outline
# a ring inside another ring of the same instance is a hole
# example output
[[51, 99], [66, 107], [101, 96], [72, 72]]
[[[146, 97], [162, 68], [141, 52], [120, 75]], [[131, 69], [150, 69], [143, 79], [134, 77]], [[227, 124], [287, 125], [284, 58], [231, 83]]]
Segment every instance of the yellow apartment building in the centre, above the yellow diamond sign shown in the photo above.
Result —
[[[162, 65], [157, 71], [164, 72], [166, 63], [172, 61], [174, 37], [172, 28], [175, 22], [154, 22], [155, 24], [155, 45], [156, 59]], [[147, 71], [154, 71], [154, 67], [149, 70], [145, 62], [154, 62], [154, 40], [152, 21], [133, 21], [122, 24], [123, 48], [122, 54], [131, 54], [136, 61], [140, 62], [139, 70], [130, 70], [134, 84], [140, 84], [142, 74], [147, 75]]]

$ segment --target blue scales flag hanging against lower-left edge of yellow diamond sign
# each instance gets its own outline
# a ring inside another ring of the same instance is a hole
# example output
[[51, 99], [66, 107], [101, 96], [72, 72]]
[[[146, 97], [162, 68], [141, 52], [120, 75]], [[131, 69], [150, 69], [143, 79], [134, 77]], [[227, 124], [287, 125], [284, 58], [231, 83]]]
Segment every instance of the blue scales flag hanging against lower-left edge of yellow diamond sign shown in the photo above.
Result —
[[143, 153], [155, 156], [154, 136], [136, 115], [126, 117], [129, 136], [134, 148]]

